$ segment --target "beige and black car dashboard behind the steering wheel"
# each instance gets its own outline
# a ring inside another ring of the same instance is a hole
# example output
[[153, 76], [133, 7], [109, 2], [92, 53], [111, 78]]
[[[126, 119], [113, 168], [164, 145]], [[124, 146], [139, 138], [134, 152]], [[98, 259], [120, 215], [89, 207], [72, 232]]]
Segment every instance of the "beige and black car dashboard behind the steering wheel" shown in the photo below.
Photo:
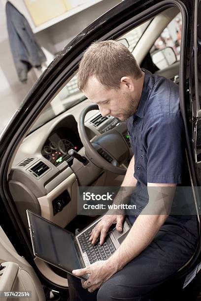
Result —
[[[84, 100], [49, 120], [27, 135], [17, 150], [8, 184], [26, 229], [27, 209], [65, 227], [77, 215], [80, 186], [120, 185], [122, 182], [119, 175], [105, 172], [85, 153], [77, 123], [82, 110], [89, 104]], [[94, 110], [87, 114], [85, 128], [92, 143], [105, 132], [115, 129], [130, 149], [125, 122], [111, 116], [102, 117], [99, 110]], [[87, 157], [89, 163], [84, 165], [73, 159], [68, 155], [69, 149]], [[104, 153], [100, 155], [104, 158]]]

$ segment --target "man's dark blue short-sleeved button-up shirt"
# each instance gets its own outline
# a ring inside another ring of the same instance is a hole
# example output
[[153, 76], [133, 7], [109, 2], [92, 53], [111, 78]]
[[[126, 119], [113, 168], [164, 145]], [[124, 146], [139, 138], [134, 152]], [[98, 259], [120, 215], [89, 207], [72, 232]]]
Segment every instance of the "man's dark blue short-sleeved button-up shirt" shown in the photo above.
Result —
[[127, 120], [137, 186], [181, 183], [185, 159], [179, 87], [147, 70], [134, 116]]

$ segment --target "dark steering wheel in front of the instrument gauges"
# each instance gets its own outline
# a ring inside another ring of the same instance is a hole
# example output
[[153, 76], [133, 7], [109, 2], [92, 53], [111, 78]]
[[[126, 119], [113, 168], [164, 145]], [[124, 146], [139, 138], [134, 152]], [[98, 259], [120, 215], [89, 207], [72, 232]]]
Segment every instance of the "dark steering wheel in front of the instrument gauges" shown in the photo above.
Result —
[[102, 169], [125, 175], [126, 169], [119, 167], [119, 165], [129, 157], [126, 141], [117, 130], [111, 129], [91, 143], [87, 136], [84, 120], [86, 114], [92, 110], [99, 110], [98, 105], [93, 104], [86, 107], [78, 120], [78, 132], [88, 159]]

